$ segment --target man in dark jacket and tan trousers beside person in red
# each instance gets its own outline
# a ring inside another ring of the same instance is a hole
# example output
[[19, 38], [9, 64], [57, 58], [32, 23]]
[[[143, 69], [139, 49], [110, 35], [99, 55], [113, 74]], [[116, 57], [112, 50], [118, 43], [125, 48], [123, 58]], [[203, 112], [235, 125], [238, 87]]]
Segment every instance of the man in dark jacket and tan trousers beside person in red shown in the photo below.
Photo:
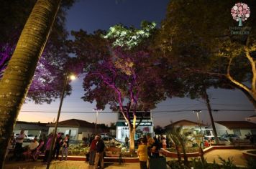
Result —
[[96, 136], [96, 155], [95, 155], [95, 161], [94, 161], [94, 168], [98, 168], [98, 163], [100, 162], [101, 169], [104, 168], [104, 141], [101, 140], [101, 135]]

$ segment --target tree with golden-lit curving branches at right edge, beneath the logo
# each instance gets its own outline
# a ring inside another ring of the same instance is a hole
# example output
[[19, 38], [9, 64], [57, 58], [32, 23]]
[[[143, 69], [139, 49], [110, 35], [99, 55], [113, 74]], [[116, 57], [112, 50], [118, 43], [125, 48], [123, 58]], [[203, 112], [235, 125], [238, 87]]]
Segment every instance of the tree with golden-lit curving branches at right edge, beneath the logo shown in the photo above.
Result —
[[[255, 105], [255, 15], [238, 27], [231, 15], [235, 4], [235, 1], [170, 1], [158, 47], [171, 56], [169, 59], [183, 59], [188, 72], [206, 74], [225, 84], [224, 79], [228, 79]], [[245, 4], [254, 11], [255, 1]], [[250, 34], [236, 35], [231, 32], [234, 29], [250, 29]]]

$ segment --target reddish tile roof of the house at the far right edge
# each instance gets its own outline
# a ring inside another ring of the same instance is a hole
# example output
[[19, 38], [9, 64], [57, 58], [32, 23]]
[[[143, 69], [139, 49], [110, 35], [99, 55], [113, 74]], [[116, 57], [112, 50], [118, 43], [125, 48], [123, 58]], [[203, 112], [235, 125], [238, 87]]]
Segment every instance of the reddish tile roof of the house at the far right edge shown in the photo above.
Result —
[[251, 129], [256, 128], [256, 124], [247, 121], [216, 121], [219, 125], [224, 125], [229, 129], [234, 128], [243, 128], [243, 129]]

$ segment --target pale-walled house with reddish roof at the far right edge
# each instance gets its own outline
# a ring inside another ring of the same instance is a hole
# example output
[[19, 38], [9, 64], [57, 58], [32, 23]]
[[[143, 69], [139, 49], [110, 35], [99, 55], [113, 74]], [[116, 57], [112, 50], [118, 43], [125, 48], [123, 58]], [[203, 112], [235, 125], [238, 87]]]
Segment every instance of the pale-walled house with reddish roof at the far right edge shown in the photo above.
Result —
[[218, 135], [235, 134], [244, 138], [248, 133], [256, 134], [256, 124], [247, 121], [216, 121], [215, 127]]

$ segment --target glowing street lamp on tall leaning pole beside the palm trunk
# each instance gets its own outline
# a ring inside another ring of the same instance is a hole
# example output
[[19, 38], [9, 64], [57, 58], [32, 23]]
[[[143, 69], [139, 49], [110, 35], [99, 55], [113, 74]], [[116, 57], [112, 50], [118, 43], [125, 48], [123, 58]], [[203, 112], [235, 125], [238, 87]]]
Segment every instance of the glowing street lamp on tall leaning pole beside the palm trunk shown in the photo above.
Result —
[[55, 122], [55, 128], [53, 130], [53, 137], [52, 137], [52, 140], [51, 140], [51, 143], [50, 143], [50, 153], [49, 153], [49, 157], [47, 159], [47, 166], [46, 166], [46, 169], [49, 169], [50, 167], [50, 161], [52, 160], [52, 149], [55, 145], [55, 140], [56, 140], [56, 132], [57, 132], [57, 128], [58, 128], [58, 122], [59, 122], [59, 118], [60, 118], [60, 111], [61, 111], [61, 107], [63, 106], [63, 99], [64, 99], [64, 95], [65, 95], [65, 88], [67, 87], [67, 84], [68, 84], [68, 80], [74, 80], [76, 79], [76, 76], [73, 75], [73, 74], [66, 74], [65, 75], [65, 82], [64, 82], [64, 86], [63, 86], [63, 92], [62, 92], [62, 95], [60, 97], [60, 106], [59, 106], [59, 110], [58, 110], [58, 115], [57, 115], [57, 119], [56, 119], [56, 122]]

